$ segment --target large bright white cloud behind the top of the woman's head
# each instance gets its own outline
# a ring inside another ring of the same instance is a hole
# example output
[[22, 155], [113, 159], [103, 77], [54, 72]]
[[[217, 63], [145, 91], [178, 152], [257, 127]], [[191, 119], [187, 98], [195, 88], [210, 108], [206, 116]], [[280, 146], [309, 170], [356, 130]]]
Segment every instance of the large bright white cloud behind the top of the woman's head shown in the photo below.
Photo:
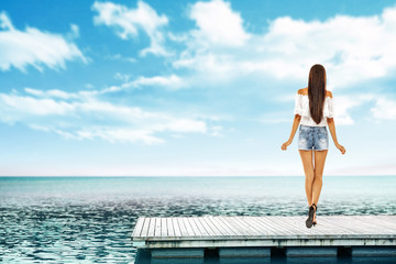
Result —
[[278, 18], [257, 42], [257, 51], [271, 54], [258, 65], [283, 78], [299, 78], [308, 76], [312, 64], [322, 63], [334, 88], [383, 77], [396, 66], [391, 59], [396, 55], [391, 44], [396, 42], [396, 23], [387, 15], [395, 10], [373, 16], [336, 15], [323, 22]]

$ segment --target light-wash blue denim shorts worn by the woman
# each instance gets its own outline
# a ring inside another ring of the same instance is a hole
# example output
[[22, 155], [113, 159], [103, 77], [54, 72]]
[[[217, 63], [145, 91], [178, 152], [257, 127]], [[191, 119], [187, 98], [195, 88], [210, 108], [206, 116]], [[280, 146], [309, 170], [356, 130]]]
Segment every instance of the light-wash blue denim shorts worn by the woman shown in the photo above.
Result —
[[300, 124], [298, 150], [326, 151], [329, 148], [329, 134], [326, 127], [309, 127]]

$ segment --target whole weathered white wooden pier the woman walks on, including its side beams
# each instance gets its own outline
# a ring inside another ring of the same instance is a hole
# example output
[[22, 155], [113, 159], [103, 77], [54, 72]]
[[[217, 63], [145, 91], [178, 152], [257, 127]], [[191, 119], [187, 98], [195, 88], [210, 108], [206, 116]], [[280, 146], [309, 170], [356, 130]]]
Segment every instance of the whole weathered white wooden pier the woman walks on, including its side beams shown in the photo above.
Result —
[[337, 256], [340, 248], [352, 255], [396, 256], [396, 216], [318, 216], [308, 229], [306, 216], [293, 217], [140, 217], [133, 246], [148, 249], [152, 257]]

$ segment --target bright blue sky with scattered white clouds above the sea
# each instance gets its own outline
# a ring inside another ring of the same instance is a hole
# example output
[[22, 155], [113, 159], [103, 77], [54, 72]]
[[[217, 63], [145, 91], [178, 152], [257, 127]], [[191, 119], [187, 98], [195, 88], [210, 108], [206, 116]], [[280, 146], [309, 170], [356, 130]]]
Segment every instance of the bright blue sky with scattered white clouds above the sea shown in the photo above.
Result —
[[294, 96], [327, 68], [341, 155], [396, 175], [395, 1], [0, 4], [0, 175], [304, 175]]

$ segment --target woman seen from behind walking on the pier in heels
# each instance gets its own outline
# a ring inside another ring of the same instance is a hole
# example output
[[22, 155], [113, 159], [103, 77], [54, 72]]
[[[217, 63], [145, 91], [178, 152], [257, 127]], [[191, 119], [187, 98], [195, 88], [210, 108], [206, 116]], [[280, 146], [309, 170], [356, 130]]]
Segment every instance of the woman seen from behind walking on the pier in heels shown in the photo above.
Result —
[[[326, 90], [326, 69], [316, 64], [310, 68], [308, 87], [299, 89], [295, 100], [295, 118], [289, 140], [282, 145], [286, 151], [292, 144], [299, 125], [298, 151], [301, 156], [306, 175], [305, 188], [309, 212], [306, 220], [307, 228], [315, 227], [316, 211], [322, 187], [324, 161], [329, 148], [329, 127], [336, 147], [345, 153], [345, 148], [337, 141], [333, 120], [333, 98], [331, 91]], [[312, 162], [312, 157], [315, 163]]]

